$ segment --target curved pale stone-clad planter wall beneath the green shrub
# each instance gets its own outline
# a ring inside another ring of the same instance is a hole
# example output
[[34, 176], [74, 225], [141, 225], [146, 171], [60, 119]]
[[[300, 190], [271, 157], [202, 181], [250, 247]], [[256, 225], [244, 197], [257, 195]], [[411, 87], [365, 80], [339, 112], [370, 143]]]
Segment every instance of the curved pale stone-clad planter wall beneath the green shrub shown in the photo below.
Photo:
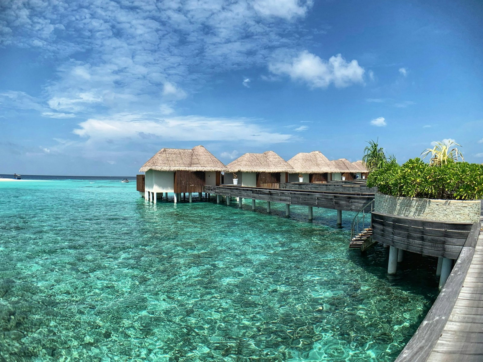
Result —
[[376, 193], [374, 211], [386, 215], [443, 222], [480, 221], [481, 200], [438, 200]]

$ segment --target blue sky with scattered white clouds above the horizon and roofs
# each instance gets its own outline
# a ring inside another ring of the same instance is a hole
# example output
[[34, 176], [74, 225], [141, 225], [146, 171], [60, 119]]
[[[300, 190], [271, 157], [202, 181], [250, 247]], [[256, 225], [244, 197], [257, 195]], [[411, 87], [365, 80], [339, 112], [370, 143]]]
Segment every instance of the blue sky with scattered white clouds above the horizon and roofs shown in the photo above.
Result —
[[483, 2], [6, 0], [0, 173], [134, 175], [163, 147], [483, 162]]

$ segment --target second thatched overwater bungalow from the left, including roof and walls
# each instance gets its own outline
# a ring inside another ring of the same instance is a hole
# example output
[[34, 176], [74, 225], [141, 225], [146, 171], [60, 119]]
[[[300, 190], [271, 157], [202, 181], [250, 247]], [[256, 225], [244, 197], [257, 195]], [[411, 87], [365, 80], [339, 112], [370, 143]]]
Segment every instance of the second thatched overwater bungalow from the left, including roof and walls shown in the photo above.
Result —
[[227, 165], [224, 183], [233, 184], [233, 174], [238, 184], [247, 187], [278, 188], [280, 182], [288, 181], [288, 174], [295, 172], [287, 161], [273, 151], [245, 153]]

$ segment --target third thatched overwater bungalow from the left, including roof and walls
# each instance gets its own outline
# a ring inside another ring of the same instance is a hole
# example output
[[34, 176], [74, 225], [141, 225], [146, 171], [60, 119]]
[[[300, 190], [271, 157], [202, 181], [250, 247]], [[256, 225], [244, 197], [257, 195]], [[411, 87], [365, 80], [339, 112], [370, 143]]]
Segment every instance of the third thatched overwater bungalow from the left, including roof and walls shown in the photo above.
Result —
[[298, 182], [298, 175], [302, 175], [303, 182], [326, 183], [332, 172], [339, 172], [320, 151], [297, 153], [287, 163], [294, 168], [288, 182]]

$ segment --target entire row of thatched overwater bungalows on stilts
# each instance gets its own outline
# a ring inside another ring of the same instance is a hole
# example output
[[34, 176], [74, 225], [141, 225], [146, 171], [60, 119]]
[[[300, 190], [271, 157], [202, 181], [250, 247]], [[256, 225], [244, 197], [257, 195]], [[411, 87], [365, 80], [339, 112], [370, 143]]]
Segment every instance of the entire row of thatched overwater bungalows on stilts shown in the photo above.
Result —
[[204, 186], [279, 188], [287, 182], [352, 181], [368, 175], [362, 161], [329, 161], [320, 151], [298, 153], [288, 161], [273, 151], [245, 153], [225, 166], [203, 146], [163, 148], [140, 172], [145, 175], [144, 180], [143, 175], [138, 176], [138, 191], [154, 202], [163, 193], [174, 193], [177, 202], [182, 193], [202, 193]]

